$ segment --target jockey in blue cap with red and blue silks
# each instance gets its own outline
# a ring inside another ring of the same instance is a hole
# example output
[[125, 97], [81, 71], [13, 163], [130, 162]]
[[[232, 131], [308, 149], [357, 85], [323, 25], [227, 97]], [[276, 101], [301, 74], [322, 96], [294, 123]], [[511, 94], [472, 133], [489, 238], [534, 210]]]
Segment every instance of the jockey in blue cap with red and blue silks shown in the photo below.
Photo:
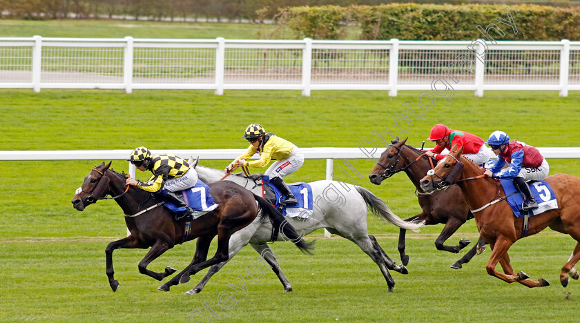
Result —
[[[510, 141], [510, 136], [503, 131], [496, 130], [487, 139], [497, 161], [485, 170], [485, 175], [493, 178], [512, 179], [514, 186], [523, 197], [523, 211], [535, 210], [538, 204], [530, 191], [526, 181], [539, 181], [548, 176], [550, 166], [539, 150], [523, 142]], [[505, 164], [510, 167], [503, 168]], [[503, 168], [503, 169], [502, 169]]]

